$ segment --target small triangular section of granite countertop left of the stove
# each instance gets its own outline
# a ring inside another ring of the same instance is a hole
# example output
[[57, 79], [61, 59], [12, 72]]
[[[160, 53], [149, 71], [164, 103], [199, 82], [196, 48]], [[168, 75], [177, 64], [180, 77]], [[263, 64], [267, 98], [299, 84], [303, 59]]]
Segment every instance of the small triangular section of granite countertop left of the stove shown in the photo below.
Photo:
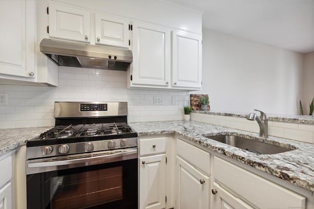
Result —
[[0, 129], [0, 155], [16, 149], [52, 127]]

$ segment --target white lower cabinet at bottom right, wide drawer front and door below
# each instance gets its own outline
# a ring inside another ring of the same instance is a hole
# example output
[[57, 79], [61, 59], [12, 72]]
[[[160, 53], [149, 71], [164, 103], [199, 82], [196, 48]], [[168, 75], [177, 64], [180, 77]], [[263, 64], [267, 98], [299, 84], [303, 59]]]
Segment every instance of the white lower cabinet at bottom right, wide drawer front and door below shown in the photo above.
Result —
[[250, 206], [260, 209], [306, 207], [306, 197], [288, 188], [217, 156], [214, 156], [213, 161], [211, 177], [211, 208], [213, 209], [251, 208]]

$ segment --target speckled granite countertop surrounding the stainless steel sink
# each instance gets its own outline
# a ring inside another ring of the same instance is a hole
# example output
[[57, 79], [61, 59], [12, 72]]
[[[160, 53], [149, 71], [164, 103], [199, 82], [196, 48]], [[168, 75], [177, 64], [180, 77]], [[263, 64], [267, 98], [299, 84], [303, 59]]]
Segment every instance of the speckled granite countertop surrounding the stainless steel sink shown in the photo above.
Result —
[[[253, 166], [294, 185], [314, 191], [314, 144], [276, 137], [265, 139], [259, 137], [259, 134], [195, 121], [137, 122], [130, 123], [130, 125], [138, 132], [139, 136], [178, 134], [210, 150], [214, 150], [239, 162]], [[267, 143], [295, 150], [272, 155], [257, 155], [203, 136], [226, 134], [234, 134], [237, 136], [250, 135], [251, 139], [267, 141]]]

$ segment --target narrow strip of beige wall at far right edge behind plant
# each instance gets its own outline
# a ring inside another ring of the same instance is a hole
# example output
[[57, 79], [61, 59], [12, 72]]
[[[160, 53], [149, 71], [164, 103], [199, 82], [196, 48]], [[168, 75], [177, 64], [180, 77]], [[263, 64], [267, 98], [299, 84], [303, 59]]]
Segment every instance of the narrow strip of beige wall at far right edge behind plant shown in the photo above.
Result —
[[303, 76], [303, 114], [309, 115], [309, 104], [314, 97], [314, 52], [304, 55], [304, 76]]

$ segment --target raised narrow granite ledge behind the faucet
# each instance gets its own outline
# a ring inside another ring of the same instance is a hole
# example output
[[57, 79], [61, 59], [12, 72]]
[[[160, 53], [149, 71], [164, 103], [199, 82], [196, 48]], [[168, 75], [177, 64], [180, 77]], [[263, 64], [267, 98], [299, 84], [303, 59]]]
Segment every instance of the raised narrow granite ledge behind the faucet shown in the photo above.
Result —
[[[222, 113], [214, 110], [192, 110], [192, 113], [201, 113], [201, 114], [209, 114], [216, 116], [231, 116], [231, 117], [242, 117], [246, 118], [249, 113], [234, 113], [234, 112], [226, 112]], [[250, 112], [257, 113], [258, 112]], [[288, 122], [288, 123], [302, 123], [314, 125], [314, 116], [291, 116], [291, 115], [275, 115], [266, 113], [269, 121], [277, 121], [277, 122]]]

